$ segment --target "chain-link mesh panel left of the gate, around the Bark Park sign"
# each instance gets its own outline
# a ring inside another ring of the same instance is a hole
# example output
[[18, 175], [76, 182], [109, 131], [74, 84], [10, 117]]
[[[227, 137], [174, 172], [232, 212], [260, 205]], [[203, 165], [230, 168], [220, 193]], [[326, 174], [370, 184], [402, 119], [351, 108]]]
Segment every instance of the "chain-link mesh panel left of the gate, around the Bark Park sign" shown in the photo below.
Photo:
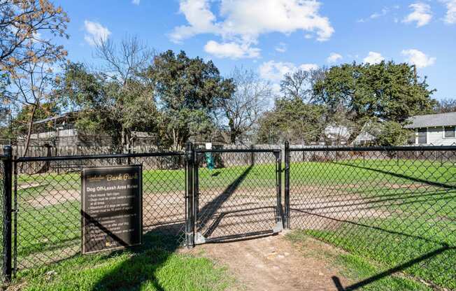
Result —
[[[35, 267], [80, 253], [80, 170], [143, 165], [143, 234], [181, 244], [185, 225], [183, 155], [17, 162], [17, 267]], [[145, 237], [146, 239], [146, 237]]]

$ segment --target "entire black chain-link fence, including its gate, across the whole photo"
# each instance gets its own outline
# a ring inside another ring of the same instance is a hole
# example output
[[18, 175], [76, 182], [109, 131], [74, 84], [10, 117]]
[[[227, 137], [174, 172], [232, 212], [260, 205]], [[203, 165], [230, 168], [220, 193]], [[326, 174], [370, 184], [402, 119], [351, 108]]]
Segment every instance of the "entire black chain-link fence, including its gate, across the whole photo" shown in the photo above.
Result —
[[[11, 159], [13, 269], [80, 254], [81, 169], [141, 164], [145, 240], [193, 246], [285, 226], [456, 289], [456, 147], [284, 148]], [[1, 167], [6, 193], [4, 181]]]

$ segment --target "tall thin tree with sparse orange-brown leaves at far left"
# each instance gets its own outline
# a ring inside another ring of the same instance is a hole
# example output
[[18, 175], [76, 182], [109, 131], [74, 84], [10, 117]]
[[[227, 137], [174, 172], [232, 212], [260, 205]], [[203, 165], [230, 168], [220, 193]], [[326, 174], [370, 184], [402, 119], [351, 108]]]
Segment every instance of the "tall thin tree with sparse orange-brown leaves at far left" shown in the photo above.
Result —
[[11, 85], [1, 95], [3, 104], [31, 106], [24, 155], [27, 155], [35, 113], [50, 97], [52, 66], [66, 57], [52, 36], [64, 36], [69, 18], [48, 0], [0, 2], [0, 72]]

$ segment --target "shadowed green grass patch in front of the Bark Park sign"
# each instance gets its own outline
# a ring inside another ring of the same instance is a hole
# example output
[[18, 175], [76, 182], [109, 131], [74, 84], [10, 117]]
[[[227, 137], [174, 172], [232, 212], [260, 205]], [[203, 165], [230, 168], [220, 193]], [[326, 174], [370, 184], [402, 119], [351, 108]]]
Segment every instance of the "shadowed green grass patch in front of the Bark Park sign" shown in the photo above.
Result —
[[148, 236], [141, 248], [85, 255], [20, 271], [21, 290], [225, 290], [234, 279], [211, 260], [175, 252], [172, 241]]

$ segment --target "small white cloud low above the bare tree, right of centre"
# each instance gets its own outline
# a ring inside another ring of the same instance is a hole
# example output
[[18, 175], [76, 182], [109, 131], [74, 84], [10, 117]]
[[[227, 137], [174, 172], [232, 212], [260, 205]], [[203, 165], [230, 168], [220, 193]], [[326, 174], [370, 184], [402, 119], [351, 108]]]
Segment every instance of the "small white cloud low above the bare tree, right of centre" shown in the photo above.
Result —
[[301, 64], [296, 66], [290, 62], [275, 62], [269, 61], [264, 62], [259, 66], [259, 76], [264, 80], [269, 80], [272, 82], [280, 82], [283, 79], [283, 76], [287, 73], [294, 73], [297, 70], [310, 71], [318, 69], [316, 64]]

